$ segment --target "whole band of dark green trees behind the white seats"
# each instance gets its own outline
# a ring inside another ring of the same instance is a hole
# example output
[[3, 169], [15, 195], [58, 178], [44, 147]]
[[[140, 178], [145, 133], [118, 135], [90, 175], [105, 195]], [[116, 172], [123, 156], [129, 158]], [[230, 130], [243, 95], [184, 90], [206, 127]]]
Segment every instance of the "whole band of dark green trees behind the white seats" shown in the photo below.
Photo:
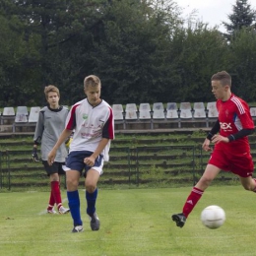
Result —
[[1, 0], [0, 107], [42, 105], [49, 84], [70, 105], [90, 74], [111, 104], [212, 101], [221, 70], [255, 101], [256, 15], [247, 0], [233, 2], [223, 33], [183, 21], [172, 0]]

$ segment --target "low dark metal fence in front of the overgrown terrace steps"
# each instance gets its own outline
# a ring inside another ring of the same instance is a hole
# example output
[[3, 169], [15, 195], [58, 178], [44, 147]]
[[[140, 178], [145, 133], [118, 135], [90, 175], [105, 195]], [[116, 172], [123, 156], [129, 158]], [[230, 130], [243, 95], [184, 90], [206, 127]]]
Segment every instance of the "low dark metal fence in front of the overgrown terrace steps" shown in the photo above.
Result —
[[[48, 187], [41, 162], [33, 162], [27, 151], [0, 152], [0, 188]], [[193, 185], [205, 165], [201, 148], [196, 146], [119, 147], [111, 149], [105, 162], [100, 187], [152, 187]], [[84, 180], [81, 178], [81, 185]], [[65, 187], [65, 177], [62, 181]]]

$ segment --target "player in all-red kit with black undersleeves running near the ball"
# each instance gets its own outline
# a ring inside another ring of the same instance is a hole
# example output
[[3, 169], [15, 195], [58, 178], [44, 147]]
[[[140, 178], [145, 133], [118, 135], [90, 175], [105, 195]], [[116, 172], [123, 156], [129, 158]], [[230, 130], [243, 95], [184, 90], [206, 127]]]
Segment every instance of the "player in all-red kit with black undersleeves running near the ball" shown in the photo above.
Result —
[[[172, 221], [180, 227], [221, 169], [238, 175], [244, 189], [256, 192], [256, 181], [252, 178], [254, 164], [248, 142], [248, 135], [254, 132], [249, 106], [231, 93], [231, 77], [225, 71], [213, 75], [211, 82], [219, 117], [202, 147], [212, 152], [212, 156], [189, 194], [182, 213], [172, 215]], [[210, 147], [211, 142], [215, 144], [214, 150]]]

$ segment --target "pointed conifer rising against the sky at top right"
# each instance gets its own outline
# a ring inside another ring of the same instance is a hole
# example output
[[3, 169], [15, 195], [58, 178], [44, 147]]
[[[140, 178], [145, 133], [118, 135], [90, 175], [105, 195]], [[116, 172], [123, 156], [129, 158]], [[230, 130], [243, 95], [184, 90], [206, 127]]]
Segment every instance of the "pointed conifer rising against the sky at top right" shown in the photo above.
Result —
[[234, 34], [242, 28], [255, 26], [256, 12], [247, 0], [236, 0], [232, 6], [233, 13], [228, 15], [230, 23], [223, 23], [227, 34]]

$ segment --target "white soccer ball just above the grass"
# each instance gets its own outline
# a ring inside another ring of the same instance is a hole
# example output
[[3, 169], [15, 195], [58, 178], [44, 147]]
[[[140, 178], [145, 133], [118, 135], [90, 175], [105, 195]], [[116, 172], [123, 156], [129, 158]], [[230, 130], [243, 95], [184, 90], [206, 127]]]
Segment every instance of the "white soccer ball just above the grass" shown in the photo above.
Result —
[[224, 224], [224, 209], [220, 206], [208, 206], [201, 214], [202, 223], [212, 229], [218, 228]]

